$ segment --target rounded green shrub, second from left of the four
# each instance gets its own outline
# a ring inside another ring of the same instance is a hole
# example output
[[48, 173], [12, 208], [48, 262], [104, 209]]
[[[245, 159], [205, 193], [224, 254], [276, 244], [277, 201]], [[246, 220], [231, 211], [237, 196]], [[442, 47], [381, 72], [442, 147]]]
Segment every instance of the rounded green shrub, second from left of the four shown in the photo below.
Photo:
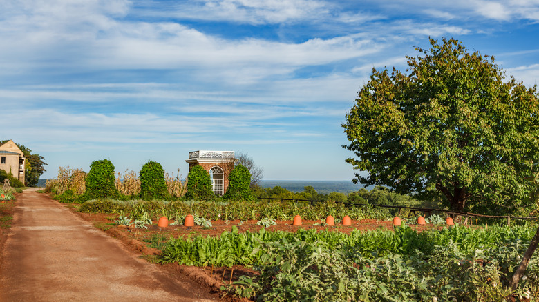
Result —
[[170, 197], [164, 170], [160, 163], [149, 161], [140, 170], [140, 198], [144, 200], [168, 199]]

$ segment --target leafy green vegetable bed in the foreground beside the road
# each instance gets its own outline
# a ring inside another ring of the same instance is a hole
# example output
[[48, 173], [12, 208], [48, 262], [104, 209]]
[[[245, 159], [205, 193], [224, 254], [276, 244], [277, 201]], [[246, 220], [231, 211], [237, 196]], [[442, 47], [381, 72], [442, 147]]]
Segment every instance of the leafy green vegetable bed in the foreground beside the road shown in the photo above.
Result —
[[[534, 227], [462, 226], [416, 232], [395, 228], [316, 232], [238, 233], [171, 239], [159, 261], [198, 266], [245, 265], [223, 290], [258, 301], [503, 301], [508, 280]], [[532, 259], [513, 294], [539, 293], [539, 263]]]

